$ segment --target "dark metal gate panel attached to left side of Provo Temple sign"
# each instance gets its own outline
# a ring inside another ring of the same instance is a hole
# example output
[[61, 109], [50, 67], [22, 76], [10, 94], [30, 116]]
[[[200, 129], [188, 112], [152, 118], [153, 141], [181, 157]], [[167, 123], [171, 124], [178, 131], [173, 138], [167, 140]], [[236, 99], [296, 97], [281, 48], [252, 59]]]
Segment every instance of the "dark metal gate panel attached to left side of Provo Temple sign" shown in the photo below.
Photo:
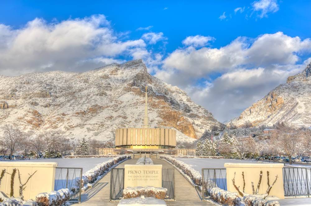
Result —
[[110, 201], [123, 197], [124, 168], [113, 168], [110, 174]]

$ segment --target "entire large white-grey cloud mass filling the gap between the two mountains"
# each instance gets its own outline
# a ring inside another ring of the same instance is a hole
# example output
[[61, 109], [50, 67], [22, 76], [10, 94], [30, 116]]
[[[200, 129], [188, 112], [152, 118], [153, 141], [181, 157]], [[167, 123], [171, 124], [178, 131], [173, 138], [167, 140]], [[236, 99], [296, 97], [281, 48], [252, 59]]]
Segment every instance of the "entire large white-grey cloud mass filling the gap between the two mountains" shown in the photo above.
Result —
[[[309, 53], [311, 39], [282, 32], [255, 39], [239, 37], [220, 48], [178, 48], [164, 59], [156, 76], [184, 89], [217, 120], [227, 121], [285, 83], [288, 76], [301, 72], [311, 58], [297, 62]], [[210, 79], [211, 74], [219, 77]], [[206, 85], [195, 86], [202, 79]]]

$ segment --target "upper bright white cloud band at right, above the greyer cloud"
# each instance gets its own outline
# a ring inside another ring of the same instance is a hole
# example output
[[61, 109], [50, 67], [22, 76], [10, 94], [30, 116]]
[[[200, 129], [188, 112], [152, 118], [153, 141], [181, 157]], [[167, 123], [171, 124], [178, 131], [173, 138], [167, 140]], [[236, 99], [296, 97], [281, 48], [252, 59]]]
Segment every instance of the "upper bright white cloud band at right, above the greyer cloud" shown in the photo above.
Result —
[[220, 48], [179, 48], [163, 61], [163, 67], [166, 70], [175, 69], [185, 76], [202, 77], [243, 65], [295, 64], [299, 60], [298, 53], [310, 51], [311, 39], [301, 40], [277, 32], [256, 39], [239, 37]]

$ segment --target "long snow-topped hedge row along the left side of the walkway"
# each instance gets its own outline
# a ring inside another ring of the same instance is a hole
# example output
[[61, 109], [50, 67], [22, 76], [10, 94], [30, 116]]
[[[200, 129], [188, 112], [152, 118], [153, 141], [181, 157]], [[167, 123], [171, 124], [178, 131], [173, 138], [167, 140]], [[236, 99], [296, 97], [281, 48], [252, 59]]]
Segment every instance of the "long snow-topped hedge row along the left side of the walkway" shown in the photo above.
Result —
[[[86, 185], [87, 183], [94, 183], [97, 180], [98, 176], [103, 175], [105, 171], [108, 171], [115, 164], [118, 164], [119, 162], [130, 158], [131, 155], [119, 155], [113, 159], [109, 159], [103, 163], [96, 165], [94, 168], [90, 169], [82, 175], [82, 185]], [[77, 181], [77, 185], [80, 185], [79, 180]]]

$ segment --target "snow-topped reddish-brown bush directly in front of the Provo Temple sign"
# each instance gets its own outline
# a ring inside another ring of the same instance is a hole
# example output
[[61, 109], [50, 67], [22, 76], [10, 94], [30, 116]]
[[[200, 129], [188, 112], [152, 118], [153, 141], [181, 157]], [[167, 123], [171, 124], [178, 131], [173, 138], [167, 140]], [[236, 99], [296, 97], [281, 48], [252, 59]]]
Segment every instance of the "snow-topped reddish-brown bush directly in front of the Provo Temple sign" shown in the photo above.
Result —
[[136, 198], [144, 195], [145, 197], [153, 197], [156, 199], [164, 199], [167, 189], [163, 187], [127, 187], [123, 190], [123, 199]]

